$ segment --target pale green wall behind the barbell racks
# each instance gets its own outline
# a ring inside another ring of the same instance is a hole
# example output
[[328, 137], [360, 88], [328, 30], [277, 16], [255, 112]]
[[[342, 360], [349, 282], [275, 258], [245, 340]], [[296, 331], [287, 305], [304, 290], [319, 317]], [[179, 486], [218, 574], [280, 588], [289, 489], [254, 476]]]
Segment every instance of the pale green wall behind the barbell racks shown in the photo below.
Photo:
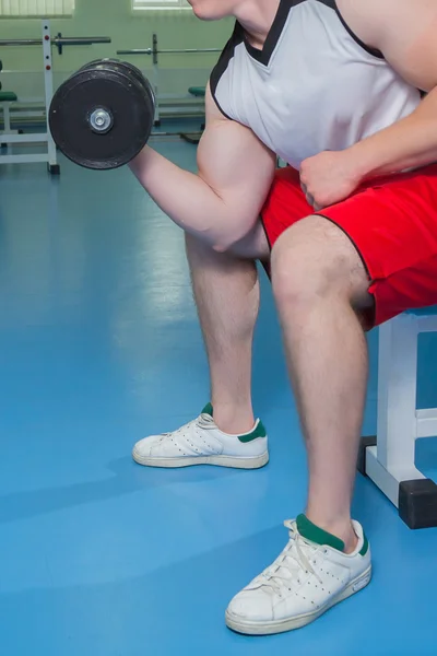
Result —
[[[56, 80], [62, 79], [82, 65], [101, 57], [116, 57], [117, 49], [146, 48], [152, 45], [154, 32], [158, 35], [162, 48], [208, 48], [223, 47], [231, 31], [231, 21], [201, 22], [191, 11], [131, 12], [130, 0], [76, 0], [73, 17], [51, 21], [51, 32], [62, 32], [64, 36], [110, 36], [109, 45], [66, 48], [62, 56], [54, 48], [54, 70]], [[36, 38], [40, 33], [38, 19], [0, 20], [0, 38]], [[38, 47], [0, 47], [0, 58], [4, 69], [27, 72], [42, 70], [42, 49]], [[189, 69], [210, 70], [216, 61], [216, 55], [163, 55], [160, 68], [175, 71], [173, 78], [182, 77], [180, 69], [187, 69], [187, 83], [191, 82]], [[132, 57], [130, 59], [142, 70], [151, 67], [151, 58]], [[177, 73], [177, 71], [179, 71]], [[61, 74], [62, 73], [62, 74]], [[172, 84], [167, 75], [166, 85]], [[12, 75], [11, 75], [12, 80]], [[180, 83], [180, 79], [179, 79]], [[34, 85], [33, 85], [34, 86]], [[3, 89], [5, 87], [3, 83]], [[23, 87], [23, 82], [20, 83]], [[166, 91], [169, 91], [168, 89]]]

